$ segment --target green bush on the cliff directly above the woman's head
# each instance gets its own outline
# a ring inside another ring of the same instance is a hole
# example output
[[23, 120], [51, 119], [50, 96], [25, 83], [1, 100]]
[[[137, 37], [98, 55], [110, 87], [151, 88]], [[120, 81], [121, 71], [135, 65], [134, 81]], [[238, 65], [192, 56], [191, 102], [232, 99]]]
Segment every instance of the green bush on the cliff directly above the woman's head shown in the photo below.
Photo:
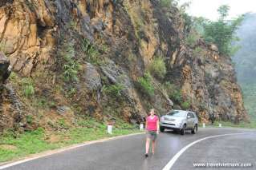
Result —
[[155, 93], [150, 73], [145, 73], [143, 77], [139, 77], [136, 81], [136, 86], [143, 94], [148, 97], [152, 97]]

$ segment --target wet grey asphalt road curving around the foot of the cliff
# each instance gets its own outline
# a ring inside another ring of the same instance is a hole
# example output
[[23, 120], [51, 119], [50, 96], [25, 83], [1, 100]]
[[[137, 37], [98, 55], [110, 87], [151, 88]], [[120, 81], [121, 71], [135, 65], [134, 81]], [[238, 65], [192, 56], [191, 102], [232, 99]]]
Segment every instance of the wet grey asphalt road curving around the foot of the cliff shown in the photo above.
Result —
[[[109, 140], [17, 164], [6, 170], [155, 170], [163, 169], [182, 148], [207, 136], [182, 152], [172, 170], [256, 169], [256, 131], [238, 128], [200, 128], [196, 135], [171, 131], [157, 138], [156, 153], [144, 157], [144, 134]], [[195, 168], [195, 163], [250, 163], [250, 168]], [[1, 169], [1, 167], [0, 167]]]

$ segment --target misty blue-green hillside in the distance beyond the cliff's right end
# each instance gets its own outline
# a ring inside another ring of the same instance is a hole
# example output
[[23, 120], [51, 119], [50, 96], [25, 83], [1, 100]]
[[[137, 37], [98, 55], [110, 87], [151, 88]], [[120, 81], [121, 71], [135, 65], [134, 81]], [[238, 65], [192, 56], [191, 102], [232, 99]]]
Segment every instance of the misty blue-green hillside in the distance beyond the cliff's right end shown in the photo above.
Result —
[[246, 14], [238, 30], [241, 48], [233, 57], [238, 74], [238, 83], [242, 87], [244, 102], [251, 119], [256, 120], [255, 84], [256, 84], [256, 14]]

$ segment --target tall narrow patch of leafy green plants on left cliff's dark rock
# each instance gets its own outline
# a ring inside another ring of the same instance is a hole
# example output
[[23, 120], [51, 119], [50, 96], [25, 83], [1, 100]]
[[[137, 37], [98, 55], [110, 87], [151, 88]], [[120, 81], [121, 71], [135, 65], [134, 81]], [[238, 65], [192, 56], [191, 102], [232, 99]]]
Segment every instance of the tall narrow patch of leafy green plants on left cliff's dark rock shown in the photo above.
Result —
[[65, 64], [63, 65], [63, 79], [64, 81], [79, 81], [78, 73], [81, 65], [75, 60], [75, 49], [73, 44], [68, 44], [67, 49], [63, 54]]

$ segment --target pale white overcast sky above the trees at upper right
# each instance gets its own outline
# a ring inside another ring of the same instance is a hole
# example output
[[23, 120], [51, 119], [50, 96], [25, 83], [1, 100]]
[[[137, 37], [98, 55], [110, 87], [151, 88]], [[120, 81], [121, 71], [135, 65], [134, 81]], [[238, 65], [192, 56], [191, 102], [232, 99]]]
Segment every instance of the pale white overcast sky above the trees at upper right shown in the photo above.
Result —
[[230, 6], [230, 18], [247, 12], [256, 12], [256, 0], [181, 0], [180, 2], [191, 2], [189, 14], [211, 20], [217, 19], [217, 8], [221, 5]]

